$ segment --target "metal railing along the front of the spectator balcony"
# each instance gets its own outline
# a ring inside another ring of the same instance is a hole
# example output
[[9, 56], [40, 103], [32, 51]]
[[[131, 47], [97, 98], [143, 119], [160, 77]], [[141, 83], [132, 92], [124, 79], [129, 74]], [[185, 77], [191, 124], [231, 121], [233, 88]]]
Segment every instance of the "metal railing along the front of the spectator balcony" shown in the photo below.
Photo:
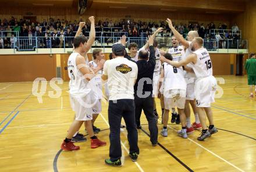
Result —
[[[62, 48], [65, 52], [66, 48], [73, 48], [73, 36], [30, 36], [30, 37], [5, 37], [5, 49], [17, 49], [18, 51], [35, 51], [38, 48]], [[172, 47], [171, 37], [157, 36], [159, 48]], [[118, 42], [120, 36], [96, 36], [93, 47], [111, 47], [113, 43]], [[12, 42], [11, 42], [12, 41]], [[141, 37], [127, 37], [127, 45], [135, 42], [138, 49], [143, 47], [147, 42], [146, 38]], [[219, 51], [219, 49], [247, 49], [247, 40], [234, 40], [234, 39], [204, 39], [204, 47], [211, 51]], [[1, 48], [1, 47], [0, 47]]]

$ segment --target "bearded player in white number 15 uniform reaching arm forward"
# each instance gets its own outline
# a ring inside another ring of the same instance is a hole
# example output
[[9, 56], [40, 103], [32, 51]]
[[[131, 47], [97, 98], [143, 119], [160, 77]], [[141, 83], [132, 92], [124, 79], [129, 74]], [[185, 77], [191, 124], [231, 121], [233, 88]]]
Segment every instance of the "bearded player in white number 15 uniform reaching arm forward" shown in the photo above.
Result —
[[[191, 43], [191, 50], [194, 52], [182, 61], [170, 61], [165, 57], [161, 57], [163, 62], [168, 62], [175, 67], [181, 67], [191, 64], [196, 76], [195, 80], [195, 98], [197, 101], [197, 110], [202, 125], [201, 136], [197, 140], [203, 141], [210, 137], [211, 134], [218, 132], [214, 127], [214, 118], [212, 116], [211, 103], [214, 102], [216, 92], [216, 79], [212, 76], [212, 63], [207, 49], [202, 47], [204, 40], [200, 37], [195, 37]], [[209, 130], [207, 130], [206, 118], [209, 120]]]

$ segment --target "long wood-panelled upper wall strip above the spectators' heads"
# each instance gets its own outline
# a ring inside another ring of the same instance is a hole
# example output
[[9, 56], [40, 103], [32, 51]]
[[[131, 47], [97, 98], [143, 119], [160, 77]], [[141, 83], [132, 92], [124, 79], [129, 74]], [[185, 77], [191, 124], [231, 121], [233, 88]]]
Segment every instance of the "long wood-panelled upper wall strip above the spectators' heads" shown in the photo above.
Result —
[[10, 19], [14, 16], [17, 19], [23, 19], [26, 14], [33, 13], [32, 16], [37, 16], [38, 21], [43, 19], [49, 20], [49, 17], [54, 19], [64, 19], [67, 21], [74, 21], [77, 19], [88, 20], [89, 16], [95, 16], [96, 20], [113, 20], [119, 21], [130, 16], [131, 19], [136, 21], [165, 21], [168, 17], [173, 19], [175, 23], [189, 23], [189, 21], [198, 21], [199, 23], [208, 24], [212, 21], [218, 27], [219, 23], [230, 24], [229, 14], [205, 14], [205, 13], [183, 13], [183, 12], [164, 12], [159, 10], [156, 14], [152, 10], [128, 10], [128, 9], [88, 9], [82, 16], [77, 14], [77, 9], [74, 8], [2, 8], [0, 7], [0, 19]]

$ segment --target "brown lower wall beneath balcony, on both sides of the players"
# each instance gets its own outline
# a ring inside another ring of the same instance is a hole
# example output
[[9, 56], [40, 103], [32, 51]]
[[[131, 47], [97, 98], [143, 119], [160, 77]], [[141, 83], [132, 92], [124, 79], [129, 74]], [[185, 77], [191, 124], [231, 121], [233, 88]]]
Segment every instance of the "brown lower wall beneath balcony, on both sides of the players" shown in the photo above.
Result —
[[[105, 54], [106, 59], [109, 59], [108, 55], [109, 53]], [[230, 65], [236, 63], [236, 54], [210, 54], [210, 56], [214, 75], [231, 74]], [[35, 78], [51, 80], [56, 77], [56, 67], [61, 67], [61, 77], [67, 81], [69, 77], [65, 67], [68, 57], [69, 54], [54, 54], [52, 57], [48, 54], [0, 56], [3, 62], [0, 64], [0, 82], [30, 82]], [[88, 54], [88, 59], [92, 59], [91, 53]]]

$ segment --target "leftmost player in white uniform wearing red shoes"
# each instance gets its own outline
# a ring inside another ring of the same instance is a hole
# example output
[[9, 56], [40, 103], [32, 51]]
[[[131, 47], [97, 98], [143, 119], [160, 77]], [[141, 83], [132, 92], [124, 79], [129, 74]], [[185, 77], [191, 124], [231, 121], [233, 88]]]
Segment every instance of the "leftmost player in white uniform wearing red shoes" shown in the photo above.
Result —
[[[70, 104], [76, 114], [76, 118], [67, 131], [67, 136], [61, 145], [61, 148], [65, 151], [76, 151], [80, 149], [79, 146], [75, 146], [73, 144], [71, 139], [73, 135], [79, 131], [83, 122], [86, 123], [86, 128], [91, 138], [91, 148], [106, 145], [106, 142], [98, 140], [97, 136], [94, 135], [93, 125], [91, 123], [91, 120], [93, 119], [91, 108], [93, 91], [90, 81], [93, 81], [95, 74], [90, 71], [90, 68], [86, 65], [86, 60], [81, 56], [81, 54], [86, 52], [88, 49], [87, 42], [88, 41], [85, 36], [78, 36], [74, 38], [74, 52], [70, 54], [67, 62], [70, 78]], [[98, 63], [96, 71], [103, 68], [104, 62], [105, 60], [101, 60], [100, 63]]]

